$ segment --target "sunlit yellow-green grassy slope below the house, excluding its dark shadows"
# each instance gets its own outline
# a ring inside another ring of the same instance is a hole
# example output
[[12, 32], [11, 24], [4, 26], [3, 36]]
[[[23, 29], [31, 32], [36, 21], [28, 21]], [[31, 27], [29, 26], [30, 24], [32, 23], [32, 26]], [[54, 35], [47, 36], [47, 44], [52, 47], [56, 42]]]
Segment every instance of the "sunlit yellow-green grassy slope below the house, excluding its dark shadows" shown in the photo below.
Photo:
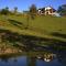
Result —
[[[20, 22], [22, 24], [19, 24], [19, 26], [14, 25], [8, 19], [14, 20], [13, 22]], [[66, 41], [66, 38], [51, 35], [52, 32], [59, 32], [66, 34], [66, 18], [36, 16], [35, 20], [30, 19], [28, 30], [24, 29], [26, 24], [28, 24], [26, 16], [0, 15], [1, 29], [10, 30], [12, 32], [18, 32], [20, 34], [25, 35], [35, 35]]]

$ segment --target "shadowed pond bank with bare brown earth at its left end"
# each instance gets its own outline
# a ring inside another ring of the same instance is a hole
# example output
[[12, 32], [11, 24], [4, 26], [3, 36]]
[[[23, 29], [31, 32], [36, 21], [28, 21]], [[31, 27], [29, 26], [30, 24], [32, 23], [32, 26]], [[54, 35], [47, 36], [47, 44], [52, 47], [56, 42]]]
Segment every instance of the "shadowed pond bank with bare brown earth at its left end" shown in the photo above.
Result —
[[23, 51], [45, 51], [66, 48], [66, 42], [23, 35], [9, 30], [0, 30], [0, 54], [22, 53]]

